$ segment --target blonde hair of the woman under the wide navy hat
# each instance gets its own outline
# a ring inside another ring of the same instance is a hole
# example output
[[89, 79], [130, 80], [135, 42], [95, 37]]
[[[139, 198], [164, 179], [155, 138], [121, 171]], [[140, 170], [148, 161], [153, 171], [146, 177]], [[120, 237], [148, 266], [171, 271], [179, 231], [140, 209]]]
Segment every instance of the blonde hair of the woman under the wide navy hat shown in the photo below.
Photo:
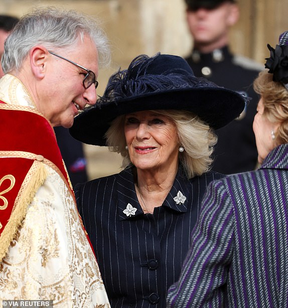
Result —
[[[186, 176], [190, 179], [200, 176], [210, 170], [213, 162], [211, 155], [217, 136], [213, 129], [197, 115], [184, 110], [153, 110], [170, 117], [176, 124], [179, 145], [184, 152], [179, 153], [179, 161], [184, 167]], [[110, 151], [120, 153], [123, 157], [122, 168], [131, 164], [128, 151], [125, 149], [124, 115], [111, 122], [107, 130], [107, 146]]]

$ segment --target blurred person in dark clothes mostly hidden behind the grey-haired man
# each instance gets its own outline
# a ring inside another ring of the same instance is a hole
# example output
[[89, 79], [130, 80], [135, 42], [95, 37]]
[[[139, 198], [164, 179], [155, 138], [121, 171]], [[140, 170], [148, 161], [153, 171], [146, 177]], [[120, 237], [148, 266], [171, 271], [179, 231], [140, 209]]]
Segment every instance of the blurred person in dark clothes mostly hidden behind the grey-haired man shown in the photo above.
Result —
[[[0, 56], [4, 52], [4, 42], [19, 19], [14, 16], [0, 15]], [[4, 75], [2, 66], [0, 68], [0, 78]], [[65, 162], [70, 181], [74, 187], [77, 183], [86, 182], [86, 158], [83, 144], [71, 137], [67, 128], [63, 126], [54, 127], [57, 142]]]

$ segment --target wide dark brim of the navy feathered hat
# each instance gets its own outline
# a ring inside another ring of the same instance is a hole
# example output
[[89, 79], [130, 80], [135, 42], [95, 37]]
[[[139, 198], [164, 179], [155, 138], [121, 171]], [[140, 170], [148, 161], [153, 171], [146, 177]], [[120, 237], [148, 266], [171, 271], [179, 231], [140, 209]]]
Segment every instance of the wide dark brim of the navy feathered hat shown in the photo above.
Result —
[[74, 118], [69, 128], [77, 140], [94, 145], [106, 145], [104, 137], [110, 123], [117, 116], [143, 110], [186, 110], [198, 115], [210, 127], [218, 129], [237, 118], [245, 107], [245, 100], [237, 92], [216, 88], [174, 89], [153, 92], [96, 105]]

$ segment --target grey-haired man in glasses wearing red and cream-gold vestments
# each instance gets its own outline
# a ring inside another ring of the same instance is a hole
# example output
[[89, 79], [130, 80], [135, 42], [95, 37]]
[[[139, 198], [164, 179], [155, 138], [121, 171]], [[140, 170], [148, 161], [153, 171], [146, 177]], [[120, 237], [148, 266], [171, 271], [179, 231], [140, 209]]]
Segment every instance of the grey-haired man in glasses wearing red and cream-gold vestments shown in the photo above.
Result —
[[107, 40], [94, 19], [40, 9], [5, 43], [0, 80], [0, 299], [109, 307], [53, 126], [96, 102]]

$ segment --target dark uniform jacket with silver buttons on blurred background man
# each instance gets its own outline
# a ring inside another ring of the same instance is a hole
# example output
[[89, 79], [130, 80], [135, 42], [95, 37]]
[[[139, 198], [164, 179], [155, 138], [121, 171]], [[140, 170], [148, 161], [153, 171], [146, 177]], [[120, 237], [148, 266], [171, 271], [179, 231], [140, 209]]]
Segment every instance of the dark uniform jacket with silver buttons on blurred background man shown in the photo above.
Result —
[[[219, 53], [220, 58], [217, 57]], [[238, 119], [216, 130], [218, 142], [214, 147], [212, 170], [222, 174], [254, 170], [257, 149], [252, 123], [259, 97], [253, 90], [253, 81], [258, 76], [260, 65], [250, 59], [233, 56], [228, 47], [209, 54], [197, 54], [194, 50], [186, 60], [195, 76], [205, 77], [251, 98]]]

